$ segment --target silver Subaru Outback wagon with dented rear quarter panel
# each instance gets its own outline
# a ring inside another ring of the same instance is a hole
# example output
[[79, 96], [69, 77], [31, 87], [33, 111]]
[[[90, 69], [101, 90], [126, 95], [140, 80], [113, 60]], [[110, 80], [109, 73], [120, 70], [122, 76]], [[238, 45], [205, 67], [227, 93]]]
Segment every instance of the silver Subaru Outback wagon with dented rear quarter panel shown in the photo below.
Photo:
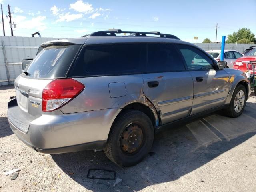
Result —
[[250, 95], [245, 74], [169, 34], [100, 31], [41, 47], [8, 103], [12, 131], [38, 152], [104, 150], [132, 166], [156, 129], [220, 109], [240, 116]]

